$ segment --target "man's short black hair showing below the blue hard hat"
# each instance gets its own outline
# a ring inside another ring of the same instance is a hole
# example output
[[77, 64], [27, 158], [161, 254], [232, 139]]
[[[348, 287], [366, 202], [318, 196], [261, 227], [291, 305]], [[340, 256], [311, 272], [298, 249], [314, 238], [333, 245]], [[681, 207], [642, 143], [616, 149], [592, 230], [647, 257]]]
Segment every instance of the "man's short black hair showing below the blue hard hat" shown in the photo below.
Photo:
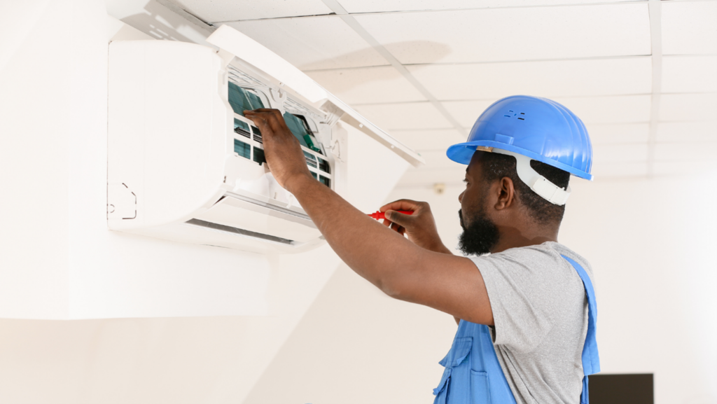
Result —
[[[565, 205], [554, 205], [547, 199], [536, 194], [533, 189], [521, 181], [516, 172], [516, 158], [506, 154], [484, 152], [481, 161], [483, 167], [483, 179], [490, 184], [496, 179], [508, 177], [513, 180], [513, 187], [516, 189], [516, 197], [528, 208], [536, 222], [540, 224], [561, 222], [565, 213]], [[531, 160], [533, 167], [538, 174], [541, 174], [548, 181], [565, 189], [570, 181], [570, 173], [542, 161]]]

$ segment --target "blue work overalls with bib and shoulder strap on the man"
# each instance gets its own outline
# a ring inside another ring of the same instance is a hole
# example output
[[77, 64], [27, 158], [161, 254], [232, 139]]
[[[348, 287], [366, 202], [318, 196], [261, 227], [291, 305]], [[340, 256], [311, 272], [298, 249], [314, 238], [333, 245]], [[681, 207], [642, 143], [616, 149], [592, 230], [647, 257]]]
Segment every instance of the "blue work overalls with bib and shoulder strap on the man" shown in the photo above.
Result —
[[[583, 390], [580, 404], [588, 404], [587, 376], [600, 371], [595, 327], [597, 304], [587, 272], [574, 260], [562, 255], [583, 281], [588, 302], [587, 337], [582, 352]], [[511, 387], [495, 355], [488, 326], [460, 321], [453, 345], [441, 362], [445, 367], [441, 382], [433, 389], [434, 404], [515, 404]]]

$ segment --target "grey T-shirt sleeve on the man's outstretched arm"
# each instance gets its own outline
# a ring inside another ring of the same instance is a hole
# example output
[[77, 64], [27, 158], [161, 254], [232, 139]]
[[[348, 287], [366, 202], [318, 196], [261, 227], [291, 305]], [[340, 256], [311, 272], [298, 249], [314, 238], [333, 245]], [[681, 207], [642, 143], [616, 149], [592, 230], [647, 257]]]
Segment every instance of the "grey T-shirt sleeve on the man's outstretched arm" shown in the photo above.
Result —
[[541, 255], [546, 254], [521, 251], [472, 258], [488, 291], [495, 344], [531, 352], [553, 327], [550, 313], [555, 302], [551, 301], [549, 287], [556, 283], [551, 283], [546, 265], [540, 265], [546, 258], [552, 261], [551, 257]]

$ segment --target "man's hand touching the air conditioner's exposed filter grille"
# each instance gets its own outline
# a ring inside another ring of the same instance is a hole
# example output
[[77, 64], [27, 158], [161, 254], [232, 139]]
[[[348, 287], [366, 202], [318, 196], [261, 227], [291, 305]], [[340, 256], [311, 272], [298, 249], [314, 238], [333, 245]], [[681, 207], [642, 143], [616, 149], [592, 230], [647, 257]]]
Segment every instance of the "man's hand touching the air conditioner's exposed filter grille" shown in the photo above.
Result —
[[[297, 138], [291, 133], [279, 110], [259, 108], [244, 111], [262, 131], [264, 154], [269, 169], [279, 185], [291, 192], [291, 184], [295, 179], [311, 177], [306, 160]], [[292, 192], [293, 193], [293, 192]]]

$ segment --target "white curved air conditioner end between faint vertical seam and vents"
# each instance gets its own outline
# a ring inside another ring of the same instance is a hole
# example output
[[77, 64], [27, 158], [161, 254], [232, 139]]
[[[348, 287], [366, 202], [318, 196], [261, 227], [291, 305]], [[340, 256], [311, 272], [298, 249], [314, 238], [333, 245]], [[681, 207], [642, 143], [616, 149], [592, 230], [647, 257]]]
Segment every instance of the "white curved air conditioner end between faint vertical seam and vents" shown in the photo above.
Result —
[[145, 186], [147, 215], [157, 224], [185, 217], [217, 194], [230, 147], [221, 59], [201, 45], [162, 45], [146, 45]]

